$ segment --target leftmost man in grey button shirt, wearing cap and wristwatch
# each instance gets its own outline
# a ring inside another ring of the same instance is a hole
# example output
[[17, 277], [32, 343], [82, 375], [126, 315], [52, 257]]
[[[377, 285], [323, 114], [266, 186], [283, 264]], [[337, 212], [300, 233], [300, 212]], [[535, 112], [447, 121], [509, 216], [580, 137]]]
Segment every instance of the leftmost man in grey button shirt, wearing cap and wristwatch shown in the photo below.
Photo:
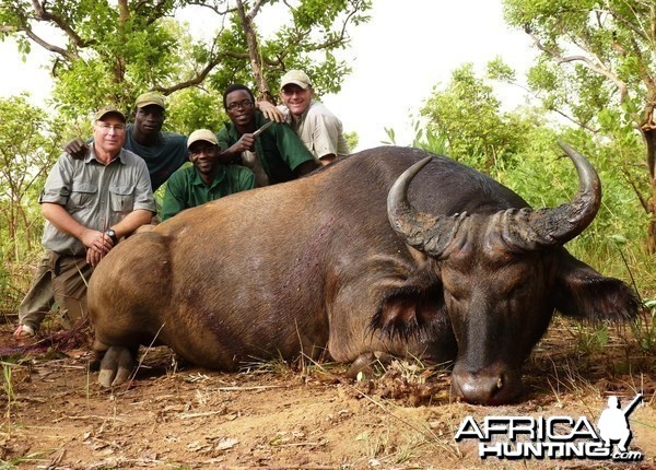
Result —
[[125, 115], [103, 108], [94, 117], [91, 152], [82, 160], [65, 153], [50, 171], [39, 197], [46, 252], [19, 307], [15, 338], [34, 336], [51, 297], [70, 321], [84, 317], [93, 268], [155, 213], [145, 163], [122, 149], [125, 138]]

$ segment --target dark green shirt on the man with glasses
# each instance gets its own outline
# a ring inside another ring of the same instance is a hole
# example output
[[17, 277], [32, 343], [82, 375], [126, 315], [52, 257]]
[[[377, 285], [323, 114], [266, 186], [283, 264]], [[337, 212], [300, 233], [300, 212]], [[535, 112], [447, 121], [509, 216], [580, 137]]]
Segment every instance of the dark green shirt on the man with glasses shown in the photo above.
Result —
[[[256, 128], [259, 129], [265, 122], [268, 122], [267, 119], [256, 110]], [[241, 137], [234, 124], [225, 122], [225, 128], [216, 134], [221, 151], [235, 144]], [[302, 163], [314, 161], [303, 141], [286, 124], [273, 122], [255, 140], [255, 153], [272, 185], [295, 179], [294, 169]]]

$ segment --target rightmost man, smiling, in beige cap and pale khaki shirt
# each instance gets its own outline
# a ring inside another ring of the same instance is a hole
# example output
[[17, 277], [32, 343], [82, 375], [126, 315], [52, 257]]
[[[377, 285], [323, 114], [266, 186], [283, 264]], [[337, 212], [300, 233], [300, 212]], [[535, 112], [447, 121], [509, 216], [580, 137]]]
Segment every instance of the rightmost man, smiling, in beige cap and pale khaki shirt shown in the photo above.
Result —
[[[327, 165], [351, 152], [341, 121], [323, 103], [313, 99], [313, 95], [314, 89], [307, 74], [302, 70], [290, 70], [280, 81], [280, 98], [284, 106], [278, 109], [315, 160]], [[270, 111], [273, 105], [258, 102], [258, 106], [267, 117], [276, 118]]]

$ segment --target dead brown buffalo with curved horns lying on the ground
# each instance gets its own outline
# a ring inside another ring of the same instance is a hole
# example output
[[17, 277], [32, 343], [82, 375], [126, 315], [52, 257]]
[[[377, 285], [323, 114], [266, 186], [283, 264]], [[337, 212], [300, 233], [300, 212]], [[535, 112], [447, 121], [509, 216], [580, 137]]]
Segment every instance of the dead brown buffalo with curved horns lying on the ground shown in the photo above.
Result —
[[298, 180], [187, 210], [113, 249], [89, 285], [99, 381], [118, 385], [140, 344], [191, 363], [373, 352], [455, 360], [462, 399], [505, 403], [554, 309], [625, 320], [639, 303], [563, 247], [601, 199], [591, 165], [574, 199], [532, 210], [444, 156], [384, 146]]

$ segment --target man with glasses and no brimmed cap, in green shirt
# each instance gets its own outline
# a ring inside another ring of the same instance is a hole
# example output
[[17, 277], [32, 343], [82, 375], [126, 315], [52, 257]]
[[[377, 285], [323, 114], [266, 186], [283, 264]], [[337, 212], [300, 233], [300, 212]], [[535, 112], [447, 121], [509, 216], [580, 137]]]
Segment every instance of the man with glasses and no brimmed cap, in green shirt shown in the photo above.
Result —
[[296, 132], [285, 124], [273, 122], [257, 136], [256, 131], [268, 121], [256, 109], [247, 86], [229, 86], [223, 94], [223, 106], [231, 122], [218, 134], [222, 162], [243, 163], [242, 154], [254, 152], [271, 185], [298, 178], [319, 166]]

